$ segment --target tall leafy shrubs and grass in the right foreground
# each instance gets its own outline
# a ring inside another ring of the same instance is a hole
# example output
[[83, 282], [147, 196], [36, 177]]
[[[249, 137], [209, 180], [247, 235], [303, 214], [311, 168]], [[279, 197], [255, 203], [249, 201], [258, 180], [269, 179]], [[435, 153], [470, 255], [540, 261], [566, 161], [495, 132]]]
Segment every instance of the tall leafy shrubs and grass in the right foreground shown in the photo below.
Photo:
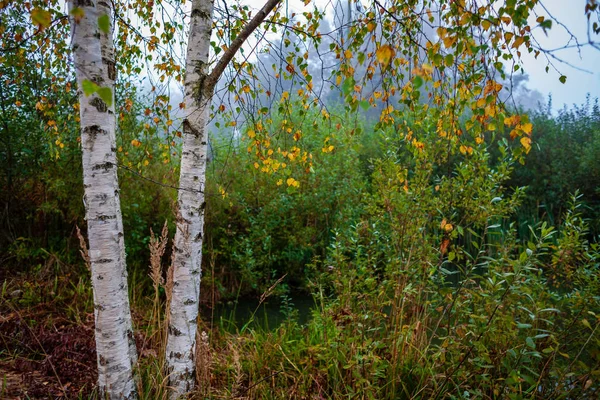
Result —
[[[397, 132], [380, 143], [359, 217], [310, 266], [312, 319], [243, 340], [220, 332], [211, 393], [593, 397], [600, 258], [579, 197], [562, 226], [532, 226], [523, 242], [509, 222], [523, 193], [506, 186], [508, 142], [499, 160], [480, 147], [450, 166]], [[423, 143], [437, 151], [434, 137]]]

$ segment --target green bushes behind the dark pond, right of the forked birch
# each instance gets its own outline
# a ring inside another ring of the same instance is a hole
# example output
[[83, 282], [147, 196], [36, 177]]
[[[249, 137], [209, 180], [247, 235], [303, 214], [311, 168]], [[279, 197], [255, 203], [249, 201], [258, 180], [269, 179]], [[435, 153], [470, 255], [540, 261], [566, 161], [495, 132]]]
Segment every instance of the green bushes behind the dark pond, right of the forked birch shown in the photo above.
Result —
[[[274, 119], [276, 126], [284, 117]], [[205, 259], [216, 269], [204, 270], [205, 277], [213, 275], [229, 293], [262, 293], [283, 275], [294, 286], [303, 286], [305, 265], [324, 257], [332, 230], [349, 225], [360, 211], [365, 184], [359, 172], [359, 136], [348, 127], [306, 125], [301, 140], [311, 154], [311, 167], [288, 158], [282, 160], [286, 167], [267, 174], [254, 165], [256, 157], [246, 148], [249, 137], [217, 137], [211, 142]], [[324, 152], [324, 143], [335, 150]], [[279, 150], [289, 146], [290, 139], [283, 135], [275, 135], [271, 144]]]

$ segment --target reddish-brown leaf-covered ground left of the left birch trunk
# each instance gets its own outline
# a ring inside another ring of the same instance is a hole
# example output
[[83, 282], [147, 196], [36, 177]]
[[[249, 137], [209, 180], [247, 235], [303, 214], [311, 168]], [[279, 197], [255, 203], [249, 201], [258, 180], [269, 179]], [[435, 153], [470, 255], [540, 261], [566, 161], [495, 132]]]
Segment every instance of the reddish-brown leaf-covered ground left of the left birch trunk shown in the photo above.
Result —
[[57, 286], [73, 287], [69, 276], [44, 275], [1, 277], [2, 399], [86, 398], [96, 384], [94, 316], [74, 315], [81, 301], [74, 291], [54, 292]]

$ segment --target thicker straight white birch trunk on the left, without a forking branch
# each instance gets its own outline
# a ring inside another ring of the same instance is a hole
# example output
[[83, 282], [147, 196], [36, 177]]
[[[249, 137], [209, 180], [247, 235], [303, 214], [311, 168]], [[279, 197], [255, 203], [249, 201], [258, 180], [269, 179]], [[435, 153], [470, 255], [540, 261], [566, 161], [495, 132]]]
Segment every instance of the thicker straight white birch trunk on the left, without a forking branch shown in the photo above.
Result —
[[[134, 399], [135, 343], [129, 311], [123, 223], [117, 179], [115, 144], [115, 65], [111, 32], [100, 31], [98, 18], [108, 14], [104, 0], [70, 0], [73, 60], [79, 90], [83, 184], [89, 257], [94, 288], [96, 352], [100, 398]], [[80, 13], [75, 13], [80, 15]], [[104, 56], [104, 57], [103, 57]], [[85, 96], [89, 80], [113, 91], [111, 105], [96, 94]], [[133, 347], [132, 347], [133, 346]]]

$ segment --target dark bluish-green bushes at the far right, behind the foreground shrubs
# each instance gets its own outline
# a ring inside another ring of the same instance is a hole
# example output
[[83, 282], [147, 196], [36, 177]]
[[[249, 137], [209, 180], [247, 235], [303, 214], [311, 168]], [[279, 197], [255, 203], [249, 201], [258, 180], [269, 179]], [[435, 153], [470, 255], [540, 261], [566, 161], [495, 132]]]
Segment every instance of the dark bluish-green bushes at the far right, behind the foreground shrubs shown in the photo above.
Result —
[[533, 147], [511, 178], [512, 186], [527, 186], [523, 223], [549, 220], [561, 224], [570, 196], [579, 191], [587, 207], [592, 236], [600, 233], [600, 106], [598, 99], [551, 114], [551, 102], [532, 115]]

